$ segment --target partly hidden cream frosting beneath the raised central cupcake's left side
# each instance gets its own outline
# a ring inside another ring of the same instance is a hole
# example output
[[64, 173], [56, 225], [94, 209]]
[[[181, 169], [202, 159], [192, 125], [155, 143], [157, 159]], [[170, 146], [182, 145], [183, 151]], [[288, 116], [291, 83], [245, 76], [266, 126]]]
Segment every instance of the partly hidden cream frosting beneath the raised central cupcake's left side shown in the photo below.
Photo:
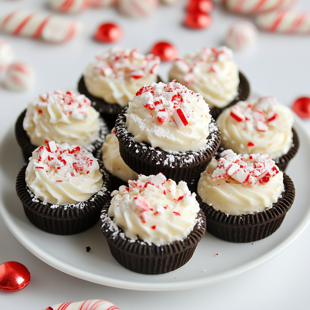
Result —
[[106, 136], [102, 145], [102, 160], [104, 168], [117, 178], [125, 182], [138, 179], [138, 174], [125, 164], [119, 153], [119, 143], [114, 128]]

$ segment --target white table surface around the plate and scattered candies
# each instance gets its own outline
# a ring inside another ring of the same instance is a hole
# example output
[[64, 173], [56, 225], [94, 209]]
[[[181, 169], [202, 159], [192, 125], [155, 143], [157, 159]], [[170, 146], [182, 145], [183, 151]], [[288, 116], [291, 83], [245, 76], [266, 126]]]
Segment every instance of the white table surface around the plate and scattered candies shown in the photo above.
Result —
[[[124, 37], [117, 46], [140, 47], [146, 53], [154, 42], [167, 40], [176, 45], [182, 56], [201, 46], [219, 46], [232, 21], [240, 19], [240, 16], [216, 8], [212, 12], [214, 22], [209, 29], [185, 29], [181, 26], [184, 3], [161, 7], [144, 20], [128, 19], [114, 9], [89, 9], [75, 16], [83, 23], [84, 31], [63, 45], [0, 34], [0, 39], [6, 39], [13, 46], [16, 60], [29, 63], [37, 75], [35, 86], [25, 93], [14, 93], [0, 87], [0, 173], [7, 177], [2, 193], [15, 195], [17, 174], [16, 168], [10, 169], [6, 165], [5, 157], [13, 157], [22, 165], [21, 152], [4, 154], [2, 151], [7, 145], [16, 145], [13, 126], [17, 116], [37, 94], [74, 87], [94, 55], [111, 46], [91, 39], [98, 24], [114, 21], [122, 26]], [[0, 0], [1, 14], [16, 8], [48, 11], [45, 1]], [[296, 9], [310, 11], [309, 0], [300, 0]], [[274, 95], [279, 102], [291, 105], [301, 95], [310, 96], [309, 51], [309, 36], [260, 32], [257, 46], [235, 53], [235, 60], [255, 90]], [[164, 79], [169, 67], [169, 63], [162, 64]], [[310, 133], [310, 121], [304, 123]], [[4, 203], [3, 199], [0, 203]], [[273, 260], [226, 281], [193, 290], [144, 292], [97, 285], [50, 267], [26, 250], [0, 218], [0, 263], [15, 260], [23, 263], [31, 273], [31, 281], [25, 289], [0, 291], [0, 309], [40, 310], [55, 303], [85, 299], [107, 299], [121, 310], [308, 309], [309, 238], [310, 227]]]

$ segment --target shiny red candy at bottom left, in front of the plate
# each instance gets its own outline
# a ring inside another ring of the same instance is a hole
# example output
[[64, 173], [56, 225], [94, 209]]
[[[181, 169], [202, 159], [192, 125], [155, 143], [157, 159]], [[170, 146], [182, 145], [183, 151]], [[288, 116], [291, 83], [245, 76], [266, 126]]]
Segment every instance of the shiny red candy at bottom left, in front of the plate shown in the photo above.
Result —
[[21, 290], [28, 285], [30, 273], [18, 262], [6, 262], [0, 265], [0, 289], [6, 291]]

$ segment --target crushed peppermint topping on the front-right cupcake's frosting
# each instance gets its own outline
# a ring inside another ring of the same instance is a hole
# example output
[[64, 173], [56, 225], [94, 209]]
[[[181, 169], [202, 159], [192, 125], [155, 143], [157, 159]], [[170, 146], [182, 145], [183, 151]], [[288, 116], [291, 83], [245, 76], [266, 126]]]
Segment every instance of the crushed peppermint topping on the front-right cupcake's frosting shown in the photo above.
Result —
[[212, 180], [234, 179], [241, 184], [254, 186], [268, 184], [278, 172], [275, 161], [268, 153], [241, 155], [228, 149], [220, 154]]

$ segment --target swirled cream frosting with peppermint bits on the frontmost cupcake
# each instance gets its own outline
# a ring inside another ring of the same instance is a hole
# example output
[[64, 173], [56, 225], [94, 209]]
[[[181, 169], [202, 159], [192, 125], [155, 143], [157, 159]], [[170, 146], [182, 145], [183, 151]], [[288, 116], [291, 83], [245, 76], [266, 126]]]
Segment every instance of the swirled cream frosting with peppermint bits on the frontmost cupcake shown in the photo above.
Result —
[[197, 223], [200, 210], [196, 194], [186, 182], [158, 175], [139, 175], [113, 191], [108, 215], [132, 241], [139, 237], [157, 246], [186, 238]]

